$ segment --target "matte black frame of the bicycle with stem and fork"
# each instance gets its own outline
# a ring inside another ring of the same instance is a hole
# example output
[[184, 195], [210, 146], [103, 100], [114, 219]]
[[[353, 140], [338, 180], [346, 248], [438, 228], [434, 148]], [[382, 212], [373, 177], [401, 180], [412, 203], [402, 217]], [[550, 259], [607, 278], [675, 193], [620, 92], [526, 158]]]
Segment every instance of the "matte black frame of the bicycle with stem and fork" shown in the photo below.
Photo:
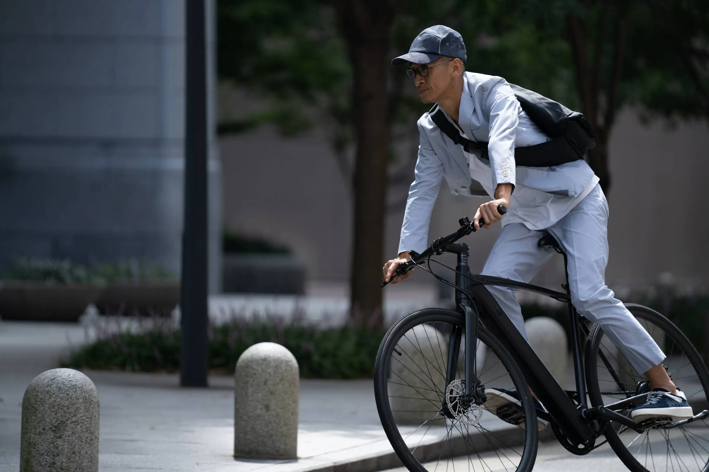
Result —
[[[476, 352], [475, 346], [477, 344], [476, 326], [477, 321], [480, 320], [510, 352], [510, 355], [520, 367], [530, 388], [532, 388], [537, 398], [545, 405], [549, 415], [557, 422], [559, 427], [561, 427], [568, 439], [576, 444], [586, 444], [593, 439], [596, 432], [591, 428], [590, 422], [584, 416], [584, 412], [588, 410], [588, 405], [586, 404], [584, 368], [581, 363], [581, 339], [579, 335], [580, 317], [579, 313], [571, 304], [571, 296], [568, 293], [568, 274], [566, 277], [567, 293], [556, 292], [532, 284], [503, 279], [501, 277], [471, 274], [468, 266], [467, 244], [451, 244], [447, 246], [445, 251], [457, 254], [455, 300], [457, 310], [465, 316], [465, 374], [466, 379], [472, 380], [466, 382], [465, 393], [474, 393], [479, 387], [479, 381], [474, 374], [474, 357]], [[566, 259], [565, 254], [564, 259]], [[556, 379], [554, 379], [554, 376], [552, 376], [547, 367], [545, 367], [542, 360], [537, 357], [532, 347], [527, 343], [527, 340], [525, 340], [523, 335], [513, 325], [512, 321], [510, 321], [507, 313], [503, 311], [496, 299], [488, 289], [486, 289], [486, 285], [524, 289], [529, 292], [564, 301], [569, 305], [569, 316], [571, 317], [571, 347], [574, 355], [576, 391], [579, 393], [580, 408], [576, 407], [576, 404], [569, 398], [564, 388], [559, 385]], [[462, 290], [473, 294], [474, 299], [470, 299]], [[459, 330], [455, 330], [451, 335], [447, 382], [452, 381], [454, 378], [461, 335], [462, 333], [460, 333]]]

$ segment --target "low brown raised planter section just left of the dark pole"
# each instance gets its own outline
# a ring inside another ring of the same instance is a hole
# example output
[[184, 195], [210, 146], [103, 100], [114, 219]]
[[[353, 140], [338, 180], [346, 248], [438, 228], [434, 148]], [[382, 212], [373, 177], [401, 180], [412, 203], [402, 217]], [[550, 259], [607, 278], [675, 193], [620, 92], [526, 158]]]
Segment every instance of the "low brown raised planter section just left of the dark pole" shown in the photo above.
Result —
[[179, 297], [179, 282], [109, 282], [94, 305], [102, 315], [169, 316]]

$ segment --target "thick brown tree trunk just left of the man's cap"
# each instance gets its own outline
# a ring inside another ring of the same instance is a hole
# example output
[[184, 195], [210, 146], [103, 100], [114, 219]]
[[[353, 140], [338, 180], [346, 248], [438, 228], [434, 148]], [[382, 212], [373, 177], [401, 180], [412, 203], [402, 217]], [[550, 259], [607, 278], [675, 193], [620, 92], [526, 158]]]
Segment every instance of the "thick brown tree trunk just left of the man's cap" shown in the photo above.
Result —
[[350, 321], [381, 328], [381, 266], [384, 256], [386, 164], [389, 156], [386, 54], [393, 19], [386, 2], [342, 0], [340, 20], [354, 71], [354, 244]]

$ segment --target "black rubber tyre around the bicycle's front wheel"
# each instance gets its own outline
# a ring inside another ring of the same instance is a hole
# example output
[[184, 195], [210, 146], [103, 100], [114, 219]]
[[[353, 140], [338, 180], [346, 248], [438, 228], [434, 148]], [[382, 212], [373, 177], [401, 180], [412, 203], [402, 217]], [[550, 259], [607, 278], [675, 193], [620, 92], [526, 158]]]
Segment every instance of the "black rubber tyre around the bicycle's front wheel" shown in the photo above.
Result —
[[[384, 432], [386, 432], [386, 437], [389, 439], [389, 442], [391, 443], [393, 450], [396, 452], [396, 455], [399, 459], [401, 459], [401, 462], [404, 464], [404, 466], [406, 466], [406, 468], [408, 468], [408, 470], [412, 472], [427, 472], [427, 469], [419, 460], [421, 458], [417, 457], [416, 454], [414, 454], [414, 452], [406, 446], [406, 442], [401, 436], [401, 432], [398, 430], [398, 426], [396, 425], [396, 421], [394, 420], [394, 415], [392, 413], [388, 393], [389, 367], [391, 365], [391, 357], [393, 355], [393, 350], [397, 346], [398, 341], [401, 340], [403, 335], [405, 335], [409, 330], [415, 328], [415, 326], [423, 325], [423, 323], [448, 323], [450, 324], [450, 326], [457, 326], [459, 328], [464, 329], [464, 316], [461, 313], [446, 309], [423, 309], [404, 316], [399, 321], [394, 323], [391, 328], [389, 328], [389, 331], [386, 333], [384, 339], [381, 341], [381, 344], [379, 345], [379, 351], [376, 355], [376, 362], [374, 367], [374, 396], [376, 401], [376, 408], [379, 413], [379, 418], [381, 420], [381, 425], [384, 428]], [[531, 471], [532, 467], [535, 464], [535, 459], [537, 455], [538, 431], [536, 427], [536, 411], [534, 403], [532, 403], [532, 397], [529, 393], [529, 388], [527, 387], [527, 383], [524, 379], [523, 374], [520, 372], [517, 364], [515, 364], [509, 352], [482, 325], [479, 326], [478, 336], [481, 343], [484, 343], [484, 345], [489, 348], [493, 355], [496, 355], [498, 359], [500, 359], [503, 364], [503, 367], [510, 374], [513, 384], [516, 388], [518, 388], [518, 391], [525, 392], [523, 394], [523, 398], [521, 399], [521, 403], [523, 405], [523, 410], [525, 413], [526, 424], [532, 424], [535, 425], [535, 427], [527, 427], [524, 430], [524, 449], [523, 454], [518, 453], [520, 455], [520, 463], [518, 464], [516, 471]], [[454, 422], [454, 420], [447, 421]], [[462, 433], [462, 430], [460, 431]], [[493, 442], [490, 442], [490, 445], [492, 444]], [[476, 453], [478, 453], [478, 451], [476, 451]], [[425, 462], [425, 460], [423, 460], [423, 462]]]

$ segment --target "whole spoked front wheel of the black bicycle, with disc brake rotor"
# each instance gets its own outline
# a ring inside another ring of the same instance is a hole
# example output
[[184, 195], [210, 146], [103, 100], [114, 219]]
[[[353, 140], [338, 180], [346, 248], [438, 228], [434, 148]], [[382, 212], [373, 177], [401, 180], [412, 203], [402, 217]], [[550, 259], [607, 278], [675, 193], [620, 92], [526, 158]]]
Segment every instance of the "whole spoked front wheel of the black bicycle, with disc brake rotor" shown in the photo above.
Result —
[[[482, 405], [457, 403], [466, 380], [464, 324], [464, 316], [455, 311], [425, 309], [389, 329], [374, 368], [376, 408], [386, 436], [409, 471], [449, 466], [530, 471], [537, 454], [534, 404], [517, 364], [483, 326], [476, 349], [477, 376], [487, 388], [520, 392], [523, 422], [521, 427], [510, 425]], [[454, 381], [446, 386], [451, 343], [459, 343], [459, 362]]]

